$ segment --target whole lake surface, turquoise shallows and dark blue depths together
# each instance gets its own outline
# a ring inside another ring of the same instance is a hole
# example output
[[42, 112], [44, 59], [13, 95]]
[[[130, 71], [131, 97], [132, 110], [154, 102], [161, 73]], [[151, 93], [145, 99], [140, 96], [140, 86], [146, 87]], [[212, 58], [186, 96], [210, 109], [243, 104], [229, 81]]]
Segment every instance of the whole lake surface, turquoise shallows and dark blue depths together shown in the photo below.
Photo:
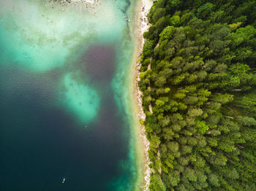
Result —
[[0, 190], [135, 189], [134, 3], [0, 1]]

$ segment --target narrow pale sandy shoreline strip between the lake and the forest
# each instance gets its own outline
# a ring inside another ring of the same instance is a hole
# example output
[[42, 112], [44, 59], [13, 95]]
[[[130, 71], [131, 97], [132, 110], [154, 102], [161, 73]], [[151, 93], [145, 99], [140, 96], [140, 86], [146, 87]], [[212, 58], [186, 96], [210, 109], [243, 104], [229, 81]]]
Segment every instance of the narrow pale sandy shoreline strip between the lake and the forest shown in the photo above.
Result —
[[[149, 10], [151, 9], [153, 5], [153, 1], [151, 0], [142, 0], [142, 4], [140, 7], [140, 25], [138, 26], [139, 28], [139, 47], [138, 47], [138, 55], [137, 55], [137, 60], [140, 59], [140, 55], [143, 50], [143, 44], [146, 41], [146, 39], [143, 38], [143, 33], [145, 31], [148, 31], [149, 28], [149, 23], [147, 19], [147, 15]], [[140, 91], [140, 88], [138, 87], [138, 82], [140, 81], [140, 62], [137, 62], [135, 65], [135, 98], [136, 98], [136, 104], [138, 106], [138, 117], [139, 120], [145, 121], [146, 119], [146, 114], [143, 112], [143, 106], [142, 106], [142, 95], [143, 93]], [[151, 174], [151, 169], [148, 167], [148, 165], [151, 163], [148, 157], [148, 149], [149, 149], [149, 141], [146, 138], [146, 130], [144, 125], [140, 125], [140, 134], [139, 137], [143, 143], [143, 149], [144, 149], [144, 155], [146, 159], [146, 171], [143, 176], [143, 191], [148, 191], [149, 190], [149, 184], [150, 184], [150, 174]]]

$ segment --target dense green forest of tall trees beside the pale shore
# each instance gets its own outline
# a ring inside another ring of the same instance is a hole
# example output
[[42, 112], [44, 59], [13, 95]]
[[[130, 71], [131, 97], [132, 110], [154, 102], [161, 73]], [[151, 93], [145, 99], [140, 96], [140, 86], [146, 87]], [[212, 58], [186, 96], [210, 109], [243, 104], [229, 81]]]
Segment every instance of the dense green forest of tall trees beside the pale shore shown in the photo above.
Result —
[[148, 20], [150, 190], [256, 190], [256, 1], [159, 0]]

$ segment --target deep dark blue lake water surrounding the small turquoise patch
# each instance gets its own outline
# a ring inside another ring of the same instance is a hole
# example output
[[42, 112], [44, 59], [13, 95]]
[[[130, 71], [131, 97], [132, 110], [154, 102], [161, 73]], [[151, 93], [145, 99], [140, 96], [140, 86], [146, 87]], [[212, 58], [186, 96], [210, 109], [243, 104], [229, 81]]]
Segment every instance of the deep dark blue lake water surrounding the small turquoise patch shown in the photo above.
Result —
[[127, 159], [128, 124], [109, 85], [113, 47], [91, 47], [76, 63], [81, 74], [83, 59], [90, 83], [100, 84], [102, 94], [97, 118], [87, 128], [56, 104], [62, 69], [33, 74], [1, 66], [0, 190], [113, 190], [110, 182], [118, 176], [129, 183], [131, 174], [118, 166]]

